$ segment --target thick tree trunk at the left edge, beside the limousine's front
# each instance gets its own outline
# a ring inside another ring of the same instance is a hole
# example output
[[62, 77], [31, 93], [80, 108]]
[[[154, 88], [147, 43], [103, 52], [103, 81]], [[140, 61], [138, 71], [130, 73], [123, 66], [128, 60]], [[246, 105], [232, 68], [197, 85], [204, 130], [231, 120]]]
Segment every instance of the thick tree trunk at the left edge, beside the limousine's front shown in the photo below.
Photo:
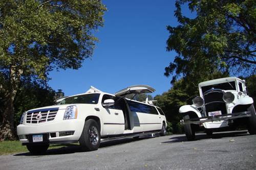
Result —
[[0, 126], [0, 141], [16, 139], [16, 131], [14, 127], [14, 99], [17, 93], [18, 84], [22, 70], [10, 67], [9, 81], [6, 86], [5, 94], [5, 110], [3, 113], [2, 124]]

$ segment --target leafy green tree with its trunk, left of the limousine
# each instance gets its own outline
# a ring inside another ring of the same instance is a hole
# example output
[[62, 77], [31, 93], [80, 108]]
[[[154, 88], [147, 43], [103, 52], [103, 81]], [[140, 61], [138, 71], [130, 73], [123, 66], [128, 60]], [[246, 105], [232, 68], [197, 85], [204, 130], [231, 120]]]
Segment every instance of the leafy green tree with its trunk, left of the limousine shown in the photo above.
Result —
[[0, 1], [0, 91], [5, 110], [0, 140], [14, 138], [20, 80], [48, 80], [56, 69], [78, 69], [91, 57], [106, 10], [98, 0]]

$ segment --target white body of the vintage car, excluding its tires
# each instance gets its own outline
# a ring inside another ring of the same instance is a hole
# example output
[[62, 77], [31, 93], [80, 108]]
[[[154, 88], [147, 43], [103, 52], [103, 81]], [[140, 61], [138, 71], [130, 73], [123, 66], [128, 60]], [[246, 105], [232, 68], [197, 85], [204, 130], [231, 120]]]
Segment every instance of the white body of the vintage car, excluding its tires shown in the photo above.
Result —
[[[229, 77], [205, 81], [199, 83], [199, 92], [203, 105], [197, 107], [193, 104], [180, 107], [179, 112], [183, 117], [185, 115], [192, 117], [182, 119], [181, 124], [196, 124], [205, 129], [218, 129], [228, 127], [235, 119], [250, 117], [250, 112], [243, 107], [253, 105], [253, 99], [247, 95], [244, 80]], [[227, 92], [233, 94], [232, 102], [223, 100], [224, 93]]]

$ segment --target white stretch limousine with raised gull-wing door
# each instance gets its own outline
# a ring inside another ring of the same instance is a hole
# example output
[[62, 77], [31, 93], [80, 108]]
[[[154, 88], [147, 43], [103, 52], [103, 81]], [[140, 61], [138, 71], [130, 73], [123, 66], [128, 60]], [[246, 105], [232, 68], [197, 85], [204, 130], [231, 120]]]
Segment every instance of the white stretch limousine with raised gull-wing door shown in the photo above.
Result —
[[97, 150], [100, 140], [120, 136], [166, 133], [163, 111], [153, 104], [126, 99], [127, 94], [150, 93], [146, 85], [130, 86], [113, 94], [91, 87], [64, 98], [55, 106], [25, 112], [17, 134], [32, 154], [47, 151], [51, 143], [78, 142], [84, 151]]

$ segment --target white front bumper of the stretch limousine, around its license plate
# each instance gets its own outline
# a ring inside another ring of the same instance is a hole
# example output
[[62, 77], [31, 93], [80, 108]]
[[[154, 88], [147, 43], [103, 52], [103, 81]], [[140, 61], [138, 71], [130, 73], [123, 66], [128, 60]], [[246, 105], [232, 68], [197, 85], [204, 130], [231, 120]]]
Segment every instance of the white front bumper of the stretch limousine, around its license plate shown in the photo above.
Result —
[[[40, 144], [40, 143], [71, 143], [77, 142], [81, 136], [84, 126], [84, 120], [69, 119], [60, 120], [54, 123], [42, 123], [38, 125], [18, 125], [17, 135], [19, 141], [24, 144]], [[62, 136], [63, 132], [73, 132], [71, 135]], [[33, 142], [32, 135], [43, 134], [44, 141]], [[55, 135], [54, 135], [55, 134]]]

